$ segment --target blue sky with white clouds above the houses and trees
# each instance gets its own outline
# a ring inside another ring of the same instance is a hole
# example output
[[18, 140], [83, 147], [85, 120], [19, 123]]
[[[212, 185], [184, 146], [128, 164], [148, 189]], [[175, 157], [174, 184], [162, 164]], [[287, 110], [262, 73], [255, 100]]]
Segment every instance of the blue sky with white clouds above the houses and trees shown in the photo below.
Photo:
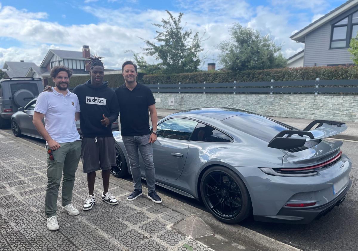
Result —
[[[183, 12], [186, 27], [204, 34], [206, 63], [220, 63], [217, 45], [229, 39], [228, 28], [240, 23], [269, 34], [282, 53], [290, 57], [304, 48], [290, 35], [343, 4], [344, 0], [0, 0], [0, 67], [5, 61], [35, 62], [40, 65], [48, 49], [80, 51], [89, 45], [91, 53], [104, 56], [107, 68], [120, 68], [132, 59], [128, 50], [141, 52], [140, 38], [153, 40], [156, 27]], [[35, 3], [35, 4], [34, 4]], [[148, 62], [154, 62], [146, 57]]]

